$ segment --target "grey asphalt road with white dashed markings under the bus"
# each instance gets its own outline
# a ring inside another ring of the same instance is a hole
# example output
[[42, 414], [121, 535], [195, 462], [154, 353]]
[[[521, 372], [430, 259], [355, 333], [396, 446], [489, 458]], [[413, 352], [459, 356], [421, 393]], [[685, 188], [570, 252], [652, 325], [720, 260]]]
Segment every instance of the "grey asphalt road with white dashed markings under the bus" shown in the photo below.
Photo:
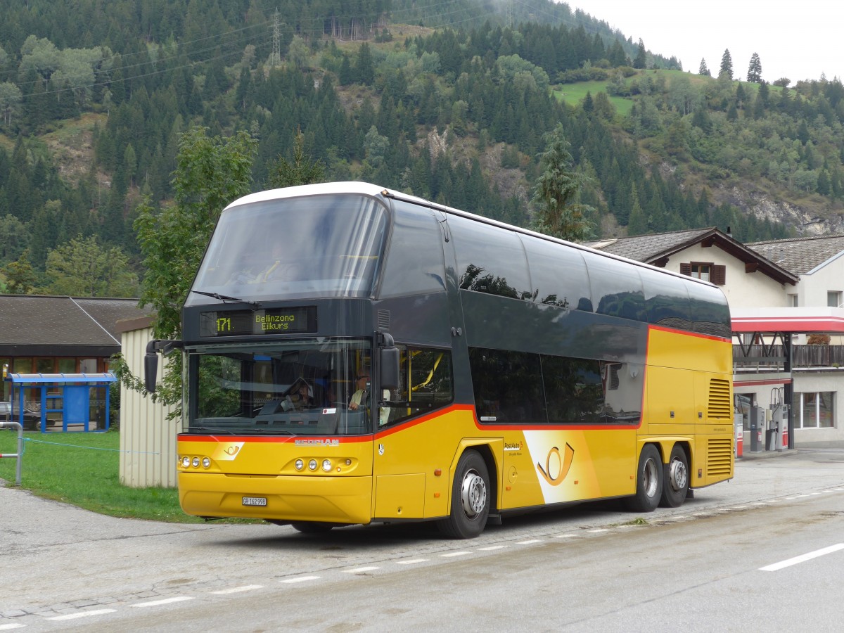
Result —
[[841, 450], [739, 460], [733, 481], [644, 521], [584, 504], [470, 541], [425, 524], [140, 522], [6, 487], [0, 631], [837, 630], [842, 513]]

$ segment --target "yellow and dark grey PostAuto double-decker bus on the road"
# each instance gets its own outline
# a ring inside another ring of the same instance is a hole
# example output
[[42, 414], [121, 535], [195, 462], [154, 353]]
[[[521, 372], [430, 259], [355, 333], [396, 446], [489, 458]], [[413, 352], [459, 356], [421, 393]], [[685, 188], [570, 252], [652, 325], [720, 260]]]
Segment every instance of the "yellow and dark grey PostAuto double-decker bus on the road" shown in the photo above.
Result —
[[652, 511], [733, 477], [717, 287], [382, 187], [231, 203], [182, 332], [179, 496], [198, 517], [472, 538], [508, 512]]

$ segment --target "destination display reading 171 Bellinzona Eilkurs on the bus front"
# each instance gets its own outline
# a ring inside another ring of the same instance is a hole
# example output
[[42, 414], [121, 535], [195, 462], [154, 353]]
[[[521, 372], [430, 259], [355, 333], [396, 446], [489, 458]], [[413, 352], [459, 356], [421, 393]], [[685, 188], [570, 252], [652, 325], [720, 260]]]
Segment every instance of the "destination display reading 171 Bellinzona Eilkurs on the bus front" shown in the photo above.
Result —
[[208, 311], [199, 315], [199, 336], [251, 336], [317, 332], [317, 306]]

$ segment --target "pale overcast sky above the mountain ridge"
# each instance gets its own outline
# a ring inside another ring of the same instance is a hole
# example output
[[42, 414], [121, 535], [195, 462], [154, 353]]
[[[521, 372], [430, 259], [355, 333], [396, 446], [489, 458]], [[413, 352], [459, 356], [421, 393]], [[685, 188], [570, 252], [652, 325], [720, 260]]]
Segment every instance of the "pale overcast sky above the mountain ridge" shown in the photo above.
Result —
[[746, 79], [750, 57], [759, 53], [762, 78], [769, 84], [792, 80], [844, 80], [844, 3], [833, 0], [566, 0], [574, 11], [619, 29], [634, 42], [664, 57], [677, 57], [697, 73], [701, 58], [713, 77], [729, 49], [733, 78]]

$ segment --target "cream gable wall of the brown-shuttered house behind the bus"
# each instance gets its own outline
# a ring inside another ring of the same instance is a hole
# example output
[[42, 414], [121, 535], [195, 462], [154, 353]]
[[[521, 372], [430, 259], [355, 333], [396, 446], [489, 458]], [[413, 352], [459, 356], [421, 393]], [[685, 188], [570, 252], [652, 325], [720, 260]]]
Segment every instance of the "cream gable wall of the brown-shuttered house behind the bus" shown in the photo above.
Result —
[[791, 285], [780, 284], [765, 273], [745, 273], [744, 262], [723, 252], [717, 246], [691, 246], [672, 255], [665, 268], [679, 273], [680, 264], [684, 262], [711, 262], [725, 266], [727, 283], [719, 287], [727, 296], [731, 307], [786, 306], [787, 288], [793, 288]]

